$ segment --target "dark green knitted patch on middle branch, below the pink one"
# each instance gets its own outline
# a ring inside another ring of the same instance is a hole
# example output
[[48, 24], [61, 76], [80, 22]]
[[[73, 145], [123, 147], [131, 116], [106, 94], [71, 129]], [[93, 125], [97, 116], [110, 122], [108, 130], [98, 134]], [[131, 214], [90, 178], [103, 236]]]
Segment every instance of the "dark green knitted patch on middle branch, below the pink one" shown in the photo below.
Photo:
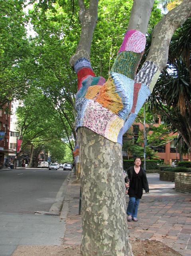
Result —
[[120, 52], [114, 61], [111, 72], [120, 73], [134, 80], [141, 57], [141, 53]]

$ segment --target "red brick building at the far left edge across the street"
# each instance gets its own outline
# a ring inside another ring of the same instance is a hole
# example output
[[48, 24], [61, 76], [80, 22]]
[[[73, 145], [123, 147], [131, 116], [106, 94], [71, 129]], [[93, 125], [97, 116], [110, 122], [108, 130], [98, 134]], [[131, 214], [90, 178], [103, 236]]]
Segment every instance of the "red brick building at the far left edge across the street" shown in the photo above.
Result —
[[0, 132], [2, 138], [0, 140], [0, 166], [7, 166], [9, 153], [9, 138], [10, 138], [10, 110], [11, 104], [5, 104], [0, 109]]

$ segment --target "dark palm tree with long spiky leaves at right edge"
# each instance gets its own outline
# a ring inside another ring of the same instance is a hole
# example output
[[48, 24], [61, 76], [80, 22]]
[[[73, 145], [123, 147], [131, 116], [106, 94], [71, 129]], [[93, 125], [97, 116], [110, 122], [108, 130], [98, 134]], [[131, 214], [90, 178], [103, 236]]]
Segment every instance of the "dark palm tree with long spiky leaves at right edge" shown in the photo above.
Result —
[[191, 18], [174, 34], [167, 67], [151, 96], [151, 108], [178, 131], [191, 153]]

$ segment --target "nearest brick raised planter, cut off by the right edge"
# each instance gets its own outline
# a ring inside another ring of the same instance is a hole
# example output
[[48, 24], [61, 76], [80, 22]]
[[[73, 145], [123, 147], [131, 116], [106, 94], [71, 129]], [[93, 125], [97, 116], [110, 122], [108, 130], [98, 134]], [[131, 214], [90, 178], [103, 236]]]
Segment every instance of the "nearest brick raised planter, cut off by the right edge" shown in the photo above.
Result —
[[191, 172], [175, 173], [175, 190], [185, 194], [191, 194]]

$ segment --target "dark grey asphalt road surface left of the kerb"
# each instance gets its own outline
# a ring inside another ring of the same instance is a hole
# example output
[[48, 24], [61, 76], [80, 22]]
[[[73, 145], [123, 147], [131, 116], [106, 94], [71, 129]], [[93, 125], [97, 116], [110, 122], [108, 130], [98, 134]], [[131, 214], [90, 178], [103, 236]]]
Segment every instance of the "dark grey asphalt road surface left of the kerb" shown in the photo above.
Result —
[[40, 168], [0, 172], [0, 212], [48, 212], [68, 174]]

